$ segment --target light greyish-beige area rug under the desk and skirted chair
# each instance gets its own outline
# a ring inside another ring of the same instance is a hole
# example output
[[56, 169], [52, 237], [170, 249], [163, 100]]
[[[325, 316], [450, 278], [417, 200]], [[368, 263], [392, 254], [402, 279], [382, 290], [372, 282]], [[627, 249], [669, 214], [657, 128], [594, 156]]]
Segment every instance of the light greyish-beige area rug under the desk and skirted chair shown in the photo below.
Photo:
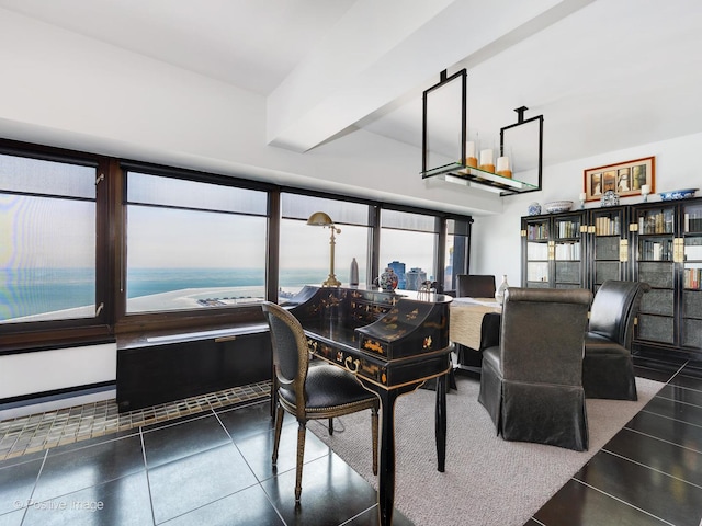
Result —
[[[507, 442], [478, 403], [479, 381], [457, 378], [446, 395], [446, 469], [437, 471], [435, 393], [419, 389], [395, 407], [395, 507], [417, 526], [522, 526], [616, 434], [664, 385], [636, 378], [638, 401], [587, 400], [590, 448]], [[377, 489], [371, 465], [370, 411], [308, 428]]]

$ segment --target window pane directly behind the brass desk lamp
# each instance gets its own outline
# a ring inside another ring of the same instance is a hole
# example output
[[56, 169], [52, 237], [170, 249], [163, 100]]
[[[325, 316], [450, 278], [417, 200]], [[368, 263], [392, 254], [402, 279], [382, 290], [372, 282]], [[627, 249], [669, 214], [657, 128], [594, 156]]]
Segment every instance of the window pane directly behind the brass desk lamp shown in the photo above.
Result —
[[359, 282], [367, 279], [369, 205], [284, 193], [281, 195], [280, 298], [305, 285], [320, 285], [330, 272], [329, 228], [307, 225], [315, 211], [325, 211], [335, 221], [335, 275], [349, 286], [351, 261], [359, 265]]

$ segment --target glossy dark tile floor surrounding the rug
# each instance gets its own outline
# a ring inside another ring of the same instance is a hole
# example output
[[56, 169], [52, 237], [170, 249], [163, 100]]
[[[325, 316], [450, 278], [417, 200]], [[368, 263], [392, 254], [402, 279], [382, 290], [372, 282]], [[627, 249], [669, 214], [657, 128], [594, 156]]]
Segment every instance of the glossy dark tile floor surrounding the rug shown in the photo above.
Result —
[[[636, 358], [636, 374], [667, 386], [528, 525], [701, 524], [702, 365]], [[276, 472], [268, 401], [8, 458], [0, 526], [376, 524], [373, 488], [313, 433], [295, 507], [285, 424]]]

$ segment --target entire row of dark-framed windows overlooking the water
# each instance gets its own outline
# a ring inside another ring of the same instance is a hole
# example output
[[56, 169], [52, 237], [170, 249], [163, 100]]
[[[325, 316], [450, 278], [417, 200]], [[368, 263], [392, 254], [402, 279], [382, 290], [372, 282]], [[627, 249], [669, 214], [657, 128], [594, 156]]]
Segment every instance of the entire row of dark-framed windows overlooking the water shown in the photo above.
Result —
[[469, 217], [0, 140], [0, 353], [257, 322], [328, 277], [315, 211], [341, 230], [343, 286], [354, 259], [361, 287], [388, 264], [407, 289], [467, 267]]

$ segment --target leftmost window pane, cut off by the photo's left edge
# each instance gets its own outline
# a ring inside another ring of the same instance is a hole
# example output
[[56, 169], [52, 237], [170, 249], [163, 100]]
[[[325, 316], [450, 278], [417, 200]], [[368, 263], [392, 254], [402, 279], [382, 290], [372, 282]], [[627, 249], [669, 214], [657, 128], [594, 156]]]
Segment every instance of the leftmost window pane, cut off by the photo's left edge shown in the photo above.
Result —
[[0, 323], [95, 317], [97, 172], [0, 153]]

